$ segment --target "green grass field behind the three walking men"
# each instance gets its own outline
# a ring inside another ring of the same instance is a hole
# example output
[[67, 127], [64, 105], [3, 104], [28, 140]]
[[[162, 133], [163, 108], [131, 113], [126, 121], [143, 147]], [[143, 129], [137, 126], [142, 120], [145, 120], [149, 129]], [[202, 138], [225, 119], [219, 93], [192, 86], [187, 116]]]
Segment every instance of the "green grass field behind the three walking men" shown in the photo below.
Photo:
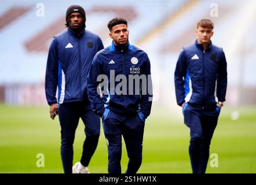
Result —
[[[153, 108], [145, 126], [143, 161], [138, 173], [191, 173], [189, 130], [182, 122], [181, 109], [177, 109]], [[233, 110], [240, 113], [238, 120], [231, 119]], [[83, 128], [80, 122], [74, 162], [81, 157]], [[44, 156], [44, 167], [36, 166], [38, 153]], [[207, 173], [256, 173], [256, 107], [224, 107], [211, 142], [212, 153], [218, 155], [218, 167], [210, 166], [210, 158]], [[123, 145], [122, 172], [127, 160]], [[102, 128], [89, 169], [92, 173], [107, 173], [107, 145]], [[58, 119], [50, 119], [48, 107], [0, 105], [0, 173], [63, 173], [60, 125]]]

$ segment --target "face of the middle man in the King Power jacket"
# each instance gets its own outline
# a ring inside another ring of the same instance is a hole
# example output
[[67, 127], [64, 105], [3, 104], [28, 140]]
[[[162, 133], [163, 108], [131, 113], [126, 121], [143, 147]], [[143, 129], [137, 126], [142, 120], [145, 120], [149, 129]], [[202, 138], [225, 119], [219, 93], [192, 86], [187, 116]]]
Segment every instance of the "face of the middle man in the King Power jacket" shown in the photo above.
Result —
[[115, 45], [126, 45], [129, 39], [127, 25], [118, 24], [112, 27], [109, 37], [113, 39]]

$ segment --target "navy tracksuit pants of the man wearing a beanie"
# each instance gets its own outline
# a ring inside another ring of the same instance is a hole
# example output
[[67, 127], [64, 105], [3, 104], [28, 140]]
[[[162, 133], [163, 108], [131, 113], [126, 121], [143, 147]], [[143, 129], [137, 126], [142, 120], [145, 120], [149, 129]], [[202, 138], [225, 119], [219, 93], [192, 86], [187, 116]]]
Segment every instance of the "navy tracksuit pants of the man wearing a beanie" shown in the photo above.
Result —
[[64, 173], [72, 173], [73, 143], [79, 119], [85, 124], [86, 139], [83, 143], [81, 164], [88, 166], [100, 136], [100, 117], [92, 110], [89, 101], [68, 102], [58, 107], [61, 126], [61, 160]]

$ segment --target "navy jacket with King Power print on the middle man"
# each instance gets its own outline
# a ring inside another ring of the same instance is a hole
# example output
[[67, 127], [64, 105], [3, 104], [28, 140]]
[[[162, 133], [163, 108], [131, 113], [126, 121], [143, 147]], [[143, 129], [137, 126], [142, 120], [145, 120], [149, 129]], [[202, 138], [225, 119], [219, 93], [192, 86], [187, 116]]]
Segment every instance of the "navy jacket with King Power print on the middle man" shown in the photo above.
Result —
[[[99, 51], [93, 59], [89, 77], [87, 79], [88, 98], [94, 112], [102, 117], [105, 108], [121, 114], [130, 114], [141, 111], [144, 114], [144, 118], [148, 117], [152, 105], [152, 81], [150, 69], [150, 61], [147, 53], [129, 43], [127, 46], [115, 46], [112, 42], [111, 46]], [[115, 70], [115, 79], [111, 79], [111, 70]], [[107, 92], [103, 93], [100, 97], [97, 92], [97, 87], [100, 83], [97, 82], [97, 77], [103, 74], [108, 78], [108, 81], [105, 84], [105, 86], [107, 86]], [[120, 79], [116, 80], [118, 79], [118, 75], [125, 75], [127, 79], [127, 88], [122, 94], [117, 94], [115, 91], [115, 89], [119, 87], [118, 84], [122, 82]], [[140, 84], [137, 85], [136, 83], [133, 83], [133, 90], [136, 90], [136, 88], [140, 90], [137, 94], [136, 92], [129, 93], [129, 75], [147, 76], [147, 82], [141, 81]], [[111, 80], [112, 82], [116, 80], [115, 86], [111, 86]], [[144, 91], [144, 93], [142, 93], [141, 87], [144, 85], [147, 85], [147, 92]]]

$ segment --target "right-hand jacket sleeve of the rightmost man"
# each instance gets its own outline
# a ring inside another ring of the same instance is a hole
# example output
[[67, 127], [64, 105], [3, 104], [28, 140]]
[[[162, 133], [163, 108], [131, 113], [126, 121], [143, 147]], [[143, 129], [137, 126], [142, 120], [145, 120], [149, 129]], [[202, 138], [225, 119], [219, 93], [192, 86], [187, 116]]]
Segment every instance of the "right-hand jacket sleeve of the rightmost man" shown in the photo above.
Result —
[[226, 57], [225, 53], [222, 51], [221, 61], [218, 71], [217, 80], [217, 98], [218, 101], [224, 102], [226, 99], [226, 86], [228, 84], [228, 73], [226, 72]]

